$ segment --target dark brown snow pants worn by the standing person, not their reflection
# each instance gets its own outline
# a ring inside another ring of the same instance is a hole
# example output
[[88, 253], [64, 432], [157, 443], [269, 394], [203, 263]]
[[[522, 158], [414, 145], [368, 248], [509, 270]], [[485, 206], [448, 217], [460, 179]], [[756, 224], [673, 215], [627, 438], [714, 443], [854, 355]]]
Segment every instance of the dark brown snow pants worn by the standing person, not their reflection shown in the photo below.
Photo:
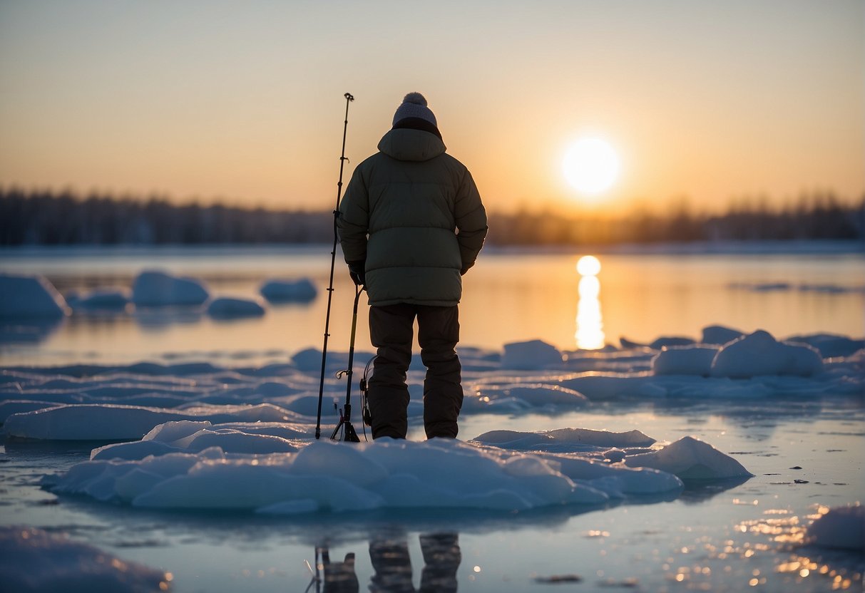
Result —
[[463, 405], [462, 367], [456, 351], [457, 306], [399, 303], [369, 308], [369, 338], [378, 350], [368, 392], [374, 439], [406, 437], [409, 401], [406, 373], [412, 361], [415, 317], [420, 360], [426, 365], [426, 437], [457, 437], [457, 418]]

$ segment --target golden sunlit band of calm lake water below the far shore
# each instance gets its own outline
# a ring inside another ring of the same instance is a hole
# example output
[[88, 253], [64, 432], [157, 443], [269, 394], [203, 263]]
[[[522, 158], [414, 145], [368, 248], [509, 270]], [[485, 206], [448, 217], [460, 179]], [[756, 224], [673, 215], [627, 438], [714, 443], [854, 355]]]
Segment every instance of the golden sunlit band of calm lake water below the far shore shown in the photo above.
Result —
[[[699, 338], [712, 324], [745, 332], [762, 328], [779, 338], [865, 334], [862, 253], [599, 254], [596, 279], [580, 277], [576, 265], [583, 255], [482, 252], [464, 277], [462, 343], [501, 349], [511, 341], [541, 339], [564, 350], [600, 348], [618, 346], [623, 336], [642, 342], [661, 335]], [[337, 254], [330, 348], [345, 350], [354, 289], [340, 261]], [[260, 362], [322, 346], [326, 245], [0, 252], [0, 271], [42, 273], [63, 293], [130, 287], [147, 269], [202, 278], [215, 296], [256, 297], [272, 277], [309, 277], [319, 293], [311, 303], [273, 305], [266, 316], [249, 320], [219, 321], [189, 308], [76, 314], [29, 344], [0, 343], [0, 360], [130, 362], [204, 354]], [[593, 290], [585, 290], [586, 280]], [[356, 343], [363, 348], [365, 308], [360, 315]]]

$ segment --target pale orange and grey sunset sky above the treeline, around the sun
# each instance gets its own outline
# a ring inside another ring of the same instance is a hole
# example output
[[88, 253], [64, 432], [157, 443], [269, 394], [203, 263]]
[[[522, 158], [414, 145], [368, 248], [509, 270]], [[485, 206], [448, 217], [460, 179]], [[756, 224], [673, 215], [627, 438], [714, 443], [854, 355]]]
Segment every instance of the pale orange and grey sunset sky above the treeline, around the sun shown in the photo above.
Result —
[[865, 194], [862, 0], [0, 0], [0, 187], [330, 210], [413, 91], [490, 211]]

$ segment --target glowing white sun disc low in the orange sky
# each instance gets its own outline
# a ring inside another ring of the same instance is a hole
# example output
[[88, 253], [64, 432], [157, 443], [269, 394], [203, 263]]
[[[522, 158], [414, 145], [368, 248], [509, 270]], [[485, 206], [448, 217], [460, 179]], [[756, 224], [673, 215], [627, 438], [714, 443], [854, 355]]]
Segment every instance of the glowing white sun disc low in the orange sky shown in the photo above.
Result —
[[612, 188], [621, 165], [610, 143], [583, 137], [571, 145], [561, 162], [567, 182], [581, 194], [597, 195]]

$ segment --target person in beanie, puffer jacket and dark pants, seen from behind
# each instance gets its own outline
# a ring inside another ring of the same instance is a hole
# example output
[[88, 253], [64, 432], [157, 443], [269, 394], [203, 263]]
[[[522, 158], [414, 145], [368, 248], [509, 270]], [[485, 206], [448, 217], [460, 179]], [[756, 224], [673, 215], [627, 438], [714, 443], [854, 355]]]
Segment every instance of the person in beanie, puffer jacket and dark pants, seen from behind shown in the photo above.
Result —
[[378, 150], [355, 169], [336, 220], [349, 274], [369, 297], [377, 348], [368, 391], [373, 438], [406, 437], [415, 317], [426, 365], [426, 437], [456, 438], [461, 277], [484, 246], [486, 211], [469, 170], [445, 153], [420, 92], [403, 99]]

